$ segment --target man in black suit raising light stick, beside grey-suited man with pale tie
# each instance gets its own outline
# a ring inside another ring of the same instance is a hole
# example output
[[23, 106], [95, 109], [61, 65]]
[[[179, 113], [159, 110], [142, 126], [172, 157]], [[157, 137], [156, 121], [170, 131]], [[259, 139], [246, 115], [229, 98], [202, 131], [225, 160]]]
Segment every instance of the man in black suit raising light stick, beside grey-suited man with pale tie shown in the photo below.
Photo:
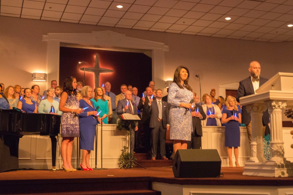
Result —
[[[151, 151], [151, 128], [149, 127], [149, 122], [151, 119], [151, 113], [144, 113], [144, 111], [147, 110], [147, 106], [149, 103], [149, 100], [152, 99], [151, 96], [153, 95], [153, 89], [151, 87], [146, 88], [146, 96], [140, 98], [137, 109], [143, 110], [142, 114], [142, 125], [144, 130], [144, 148], [146, 148], [148, 151]], [[154, 97], [153, 100], [156, 98]]]

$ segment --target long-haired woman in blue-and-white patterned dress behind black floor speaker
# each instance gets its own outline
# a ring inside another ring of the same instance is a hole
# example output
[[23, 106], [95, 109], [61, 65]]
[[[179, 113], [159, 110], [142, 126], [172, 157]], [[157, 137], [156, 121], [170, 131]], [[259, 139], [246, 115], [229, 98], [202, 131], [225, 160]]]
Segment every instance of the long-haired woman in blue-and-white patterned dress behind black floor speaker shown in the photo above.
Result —
[[[174, 73], [168, 93], [168, 103], [171, 105], [170, 139], [173, 139], [173, 151], [187, 149], [187, 142], [191, 139], [192, 116], [190, 108], [193, 99], [192, 89], [188, 85], [189, 70], [185, 66], [178, 66]], [[187, 113], [185, 110], [189, 109]]]

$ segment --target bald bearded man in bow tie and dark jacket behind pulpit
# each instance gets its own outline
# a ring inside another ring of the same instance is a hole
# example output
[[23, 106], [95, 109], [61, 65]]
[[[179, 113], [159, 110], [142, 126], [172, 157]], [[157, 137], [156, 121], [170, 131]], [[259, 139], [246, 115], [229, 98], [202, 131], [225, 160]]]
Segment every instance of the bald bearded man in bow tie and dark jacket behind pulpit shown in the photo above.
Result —
[[[252, 61], [248, 68], [250, 77], [240, 81], [239, 88], [236, 95], [236, 100], [239, 102], [239, 98], [255, 94], [256, 90], [264, 84], [267, 79], [260, 77], [260, 64], [257, 61]], [[242, 106], [242, 123], [246, 125], [249, 143], [251, 143], [251, 114], [246, 111], [246, 106]], [[263, 112], [263, 135], [265, 125], [270, 122], [270, 115], [268, 110]]]

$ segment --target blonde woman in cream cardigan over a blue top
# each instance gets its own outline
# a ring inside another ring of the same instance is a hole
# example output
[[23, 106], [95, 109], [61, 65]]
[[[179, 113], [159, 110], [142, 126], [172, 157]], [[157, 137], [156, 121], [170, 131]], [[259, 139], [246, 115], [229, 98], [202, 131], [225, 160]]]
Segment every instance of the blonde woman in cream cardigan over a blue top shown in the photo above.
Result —
[[202, 126], [222, 126], [220, 121], [222, 113], [219, 106], [212, 104], [212, 96], [206, 95], [205, 105], [202, 105], [202, 109], [207, 115], [207, 118], [202, 120]]

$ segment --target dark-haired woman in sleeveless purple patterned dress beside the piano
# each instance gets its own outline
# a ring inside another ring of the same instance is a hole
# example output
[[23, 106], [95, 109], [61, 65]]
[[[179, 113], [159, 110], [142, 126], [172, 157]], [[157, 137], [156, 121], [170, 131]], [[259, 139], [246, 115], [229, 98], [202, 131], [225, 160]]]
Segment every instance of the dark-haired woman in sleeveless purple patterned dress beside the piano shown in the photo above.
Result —
[[62, 168], [64, 171], [76, 171], [71, 165], [72, 144], [74, 137], [79, 137], [78, 114], [83, 110], [79, 109], [79, 101], [76, 99], [77, 83], [74, 77], [68, 77], [64, 81], [64, 90], [61, 94], [59, 111], [61, 116], [61, 155], [63, 160]]

